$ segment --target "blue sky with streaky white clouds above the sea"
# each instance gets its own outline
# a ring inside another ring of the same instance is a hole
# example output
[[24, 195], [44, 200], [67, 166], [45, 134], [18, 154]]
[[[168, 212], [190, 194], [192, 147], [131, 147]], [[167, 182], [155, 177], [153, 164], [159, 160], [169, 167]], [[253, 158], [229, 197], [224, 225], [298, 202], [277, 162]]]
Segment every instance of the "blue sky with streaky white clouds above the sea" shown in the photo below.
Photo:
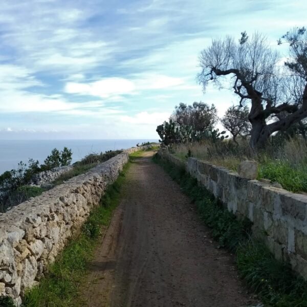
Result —
[[1, 0], [0, 139], [157, 139], [174, 106], [238, 98], [196, 82], [212, 38], [272, 48], [305, 0]]

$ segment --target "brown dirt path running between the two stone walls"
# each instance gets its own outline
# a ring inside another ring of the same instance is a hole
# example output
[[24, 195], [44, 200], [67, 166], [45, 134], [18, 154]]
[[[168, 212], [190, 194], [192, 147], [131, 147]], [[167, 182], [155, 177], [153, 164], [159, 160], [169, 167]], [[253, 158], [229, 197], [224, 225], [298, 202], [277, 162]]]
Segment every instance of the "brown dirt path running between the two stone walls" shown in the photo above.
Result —
[[216, 249], [194, 206], [151, 155], [127, 172], [91, 266], [88, 306], [249, 306], [233, 257]]

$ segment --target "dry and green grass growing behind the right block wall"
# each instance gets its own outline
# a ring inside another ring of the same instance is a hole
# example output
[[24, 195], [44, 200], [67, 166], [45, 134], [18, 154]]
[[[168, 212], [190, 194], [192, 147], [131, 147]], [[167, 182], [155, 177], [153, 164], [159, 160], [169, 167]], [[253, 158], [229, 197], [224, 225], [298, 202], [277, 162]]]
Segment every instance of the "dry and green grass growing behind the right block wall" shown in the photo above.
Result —
[[244, 160], [257, 161], [258, 179], [278, 182], [284, 189], [295, 193], [307, 192], [307, 142], [302, 139], [278, 140], [257, 153], [250, 148], [247, 140], [241, 140], [239, 146], [227, 140], [216, 144], [180, 144], [172, 148], [174, 155], [182, 161], [187, 160], [188, 150], [192, 157], [234, 171]]

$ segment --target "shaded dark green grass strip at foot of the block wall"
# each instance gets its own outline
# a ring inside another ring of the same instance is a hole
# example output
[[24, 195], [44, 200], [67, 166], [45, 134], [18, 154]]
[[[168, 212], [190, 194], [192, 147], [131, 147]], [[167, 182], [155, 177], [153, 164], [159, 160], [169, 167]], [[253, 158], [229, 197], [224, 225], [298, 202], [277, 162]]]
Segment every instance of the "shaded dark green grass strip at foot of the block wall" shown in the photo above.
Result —
[[251, 222], [237, 220], [184, 169], [160, 159], [159, 163], [198, 208], [200, 217], [222, 247], [236, 254], [240, 277], [258, 293], [267, 307], [307, 307], [307, 282], [293, 273], [288, 264], [277, 261], [264, 244], [251, 238]]

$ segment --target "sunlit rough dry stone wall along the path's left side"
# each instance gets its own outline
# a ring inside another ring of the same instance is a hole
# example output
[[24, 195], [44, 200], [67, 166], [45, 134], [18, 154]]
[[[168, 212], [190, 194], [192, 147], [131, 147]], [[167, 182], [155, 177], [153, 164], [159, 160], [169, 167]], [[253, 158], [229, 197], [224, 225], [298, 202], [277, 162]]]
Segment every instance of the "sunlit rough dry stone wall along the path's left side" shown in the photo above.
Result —
[[25, 289], [38, 283], [46, 265], [55, 260], [91, 209], [99, 204], [128, 161], [128, 154], [149, 146], [124, 150], [80, 176], [0, 213], [0, 295], [17, 305]]

